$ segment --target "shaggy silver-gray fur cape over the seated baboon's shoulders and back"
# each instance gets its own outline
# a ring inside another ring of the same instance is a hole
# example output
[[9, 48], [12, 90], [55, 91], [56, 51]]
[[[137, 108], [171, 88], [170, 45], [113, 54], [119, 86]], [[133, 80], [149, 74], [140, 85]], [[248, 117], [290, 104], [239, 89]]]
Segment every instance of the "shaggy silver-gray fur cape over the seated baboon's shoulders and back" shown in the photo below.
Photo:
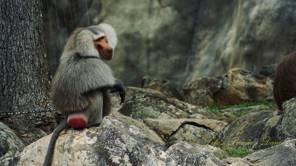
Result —
[[106, 88], [115, 84], [112, 70], [102, 59], [76, 53], [61, 60], [52, 81], [52, 104], [57, 110], [67, 113], [82, 110], [96, 97], [96, 90], [106, 94]]

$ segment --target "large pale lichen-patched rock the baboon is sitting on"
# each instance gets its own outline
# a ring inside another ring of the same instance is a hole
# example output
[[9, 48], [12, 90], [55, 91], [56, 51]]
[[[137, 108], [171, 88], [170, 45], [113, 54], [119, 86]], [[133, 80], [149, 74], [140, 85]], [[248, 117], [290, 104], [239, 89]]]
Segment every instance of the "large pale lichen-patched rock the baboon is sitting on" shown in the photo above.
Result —
[[[42, 165], [51, 135], [28, 145], [4, 165]], [[167, 150], [136, 126], [105, 117], [99, 127], [73, 129], [60, 134], [55, 144], [52, 166], [58, 165], [140, 165], [151, 149]]]

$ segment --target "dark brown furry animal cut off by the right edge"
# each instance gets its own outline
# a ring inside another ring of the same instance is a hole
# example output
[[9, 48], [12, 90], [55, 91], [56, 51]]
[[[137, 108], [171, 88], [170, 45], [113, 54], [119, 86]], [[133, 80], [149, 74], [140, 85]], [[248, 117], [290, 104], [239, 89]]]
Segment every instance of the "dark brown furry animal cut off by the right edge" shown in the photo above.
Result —
[[281, 59], [274, 74], [274, 100], [283, 110], [282, 102], [296, 97], [296, 52]]

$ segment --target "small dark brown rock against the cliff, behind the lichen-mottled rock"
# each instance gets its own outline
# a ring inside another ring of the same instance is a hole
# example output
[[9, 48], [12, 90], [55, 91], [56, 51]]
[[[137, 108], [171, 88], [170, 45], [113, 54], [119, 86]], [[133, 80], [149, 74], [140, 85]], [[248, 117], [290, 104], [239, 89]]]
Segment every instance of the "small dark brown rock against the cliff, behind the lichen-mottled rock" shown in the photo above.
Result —
[[170, 81], [166, 79], [160, 80], [150, 76], [145, 76], [143, 77], [143, 80], [141, 82], [141, 87], [145, 89], [149, 88], [160, 91], [165, 95], [176, 97], [179, 100], [183, 99], [183, 97], [179, 94], [178, 90], [175, 87], [173, 87]]

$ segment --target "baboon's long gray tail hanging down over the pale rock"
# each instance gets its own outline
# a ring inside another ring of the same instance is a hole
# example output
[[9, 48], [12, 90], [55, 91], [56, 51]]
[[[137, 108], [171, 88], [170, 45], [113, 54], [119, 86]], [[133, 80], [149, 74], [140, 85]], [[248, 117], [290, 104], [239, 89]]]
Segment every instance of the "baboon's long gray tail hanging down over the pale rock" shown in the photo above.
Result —
[[57, 126], [57, 128], [54, 130], [53, 134], [52, 134], [52, 138], [50, 139], [49, 142], [49, 146], [46, 152], [46, 156], [44, 159], [44, 163], [43, 166], [49, 166], [52, 160], [52, 154], [54, 152], [54, 145], [55, 142], [57, 141], [57, 137], [59, 136], [59, 134], [65, 130], [66, 128], [69, 127], [69, 124], [67, 122], [68, 116], [59, 124], [59, 126]]

